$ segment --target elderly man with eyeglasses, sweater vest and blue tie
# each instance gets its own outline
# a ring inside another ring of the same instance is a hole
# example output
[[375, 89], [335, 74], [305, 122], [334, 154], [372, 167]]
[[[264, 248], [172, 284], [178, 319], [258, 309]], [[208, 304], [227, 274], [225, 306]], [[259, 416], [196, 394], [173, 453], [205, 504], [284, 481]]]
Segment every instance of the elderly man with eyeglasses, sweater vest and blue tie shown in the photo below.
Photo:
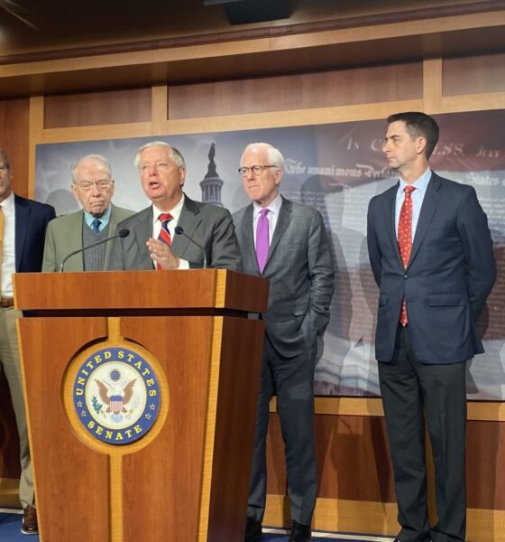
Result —
[[[100, 154], [87, 154], [72, 164], [72, 192], [82, 210], [52, 220], [47, 229], [42, 271], [59, 271], [70, 253], [114, 235], [121, 220], [133, 215], [111, 202], [115, 183], [111, 165]], [[103, 271], [111, 243], [69, 257], [65, 271]]]

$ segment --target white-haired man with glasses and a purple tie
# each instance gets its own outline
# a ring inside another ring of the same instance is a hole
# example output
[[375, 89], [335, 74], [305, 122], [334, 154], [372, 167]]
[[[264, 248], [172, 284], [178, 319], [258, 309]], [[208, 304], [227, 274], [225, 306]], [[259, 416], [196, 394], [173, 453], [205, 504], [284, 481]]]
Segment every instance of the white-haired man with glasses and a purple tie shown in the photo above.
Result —
[[262, 537], [266, 501], [266, 437], [277, 394], [293, 525], [289, 540], [311, 538], [317, 497], [314, 372], [317, 336], [329, 320], [334, 266], [321, 214], [280, 195], [284, 159], [271, 145], [248, 145], [239, 172], [253, 201], [234, 214], [243, 271], [270, 280], [262, 381], [247, 509], [246, 542]]

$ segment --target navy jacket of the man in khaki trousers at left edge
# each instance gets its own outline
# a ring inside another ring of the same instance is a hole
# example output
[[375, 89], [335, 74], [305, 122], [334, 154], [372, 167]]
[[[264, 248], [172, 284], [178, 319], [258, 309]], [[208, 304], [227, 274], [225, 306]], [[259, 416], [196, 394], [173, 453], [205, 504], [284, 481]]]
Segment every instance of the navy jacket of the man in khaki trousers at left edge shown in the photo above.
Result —
[[14, 194], [14, 213], [16, 273], [41, 271], [46, 228], [56, 216], [54, 208]]

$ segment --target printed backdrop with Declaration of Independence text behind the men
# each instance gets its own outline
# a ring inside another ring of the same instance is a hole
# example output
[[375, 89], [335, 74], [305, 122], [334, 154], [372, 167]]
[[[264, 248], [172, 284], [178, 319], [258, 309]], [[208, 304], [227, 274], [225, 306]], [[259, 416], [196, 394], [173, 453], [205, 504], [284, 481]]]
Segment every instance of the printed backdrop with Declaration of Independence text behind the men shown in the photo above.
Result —
[[[468, 397], [505, 398], [505, 111], [436, 116], [440, 141], [430, 160], [437, 173], [473, 185], [486, 211], [499, 275], [479, 322], [486, 353], [470, 364]], [[286, 159], [281, 192], [323, 214], [337, 268], [335, 296], [324, 350], [317, 363], [318, 395], [380, 394], [373, 334], [377, 287], [366, 251], [366, 211], [373, 195], [396, 182], [381, 145], [385, 121], [296, 126], [213, 134], [167, 135], [37, 145], [35, 192], [57, 214], [78, 210], [70, 164], [103, 154], [112, 164], [116, 204], [141, 210], [149, 204], [133, 166], [135, 150], [154, 139], [174, 145], [188, 165], [185, 192], [238, 210], [248, 203], [237, 168], [243, 147], [265, 141]]]

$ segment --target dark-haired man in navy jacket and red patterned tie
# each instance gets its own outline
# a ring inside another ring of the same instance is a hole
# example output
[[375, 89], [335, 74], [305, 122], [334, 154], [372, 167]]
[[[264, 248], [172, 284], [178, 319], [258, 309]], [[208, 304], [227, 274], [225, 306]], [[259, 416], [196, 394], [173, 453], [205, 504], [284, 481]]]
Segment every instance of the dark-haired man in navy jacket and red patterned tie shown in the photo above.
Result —
[[[473, 187], [427, 165], [438, 126], [388, 118], [382, 150], [399, 182], [372, 198], [368, 251], [380, 288], [375, 354], [401, 530], [399, 542], [463, 541], [465, 362], [482, 353], [475, 321], [496, 276], [491, 233]], [[438, 522], [427, 516], [425, 417]]]

